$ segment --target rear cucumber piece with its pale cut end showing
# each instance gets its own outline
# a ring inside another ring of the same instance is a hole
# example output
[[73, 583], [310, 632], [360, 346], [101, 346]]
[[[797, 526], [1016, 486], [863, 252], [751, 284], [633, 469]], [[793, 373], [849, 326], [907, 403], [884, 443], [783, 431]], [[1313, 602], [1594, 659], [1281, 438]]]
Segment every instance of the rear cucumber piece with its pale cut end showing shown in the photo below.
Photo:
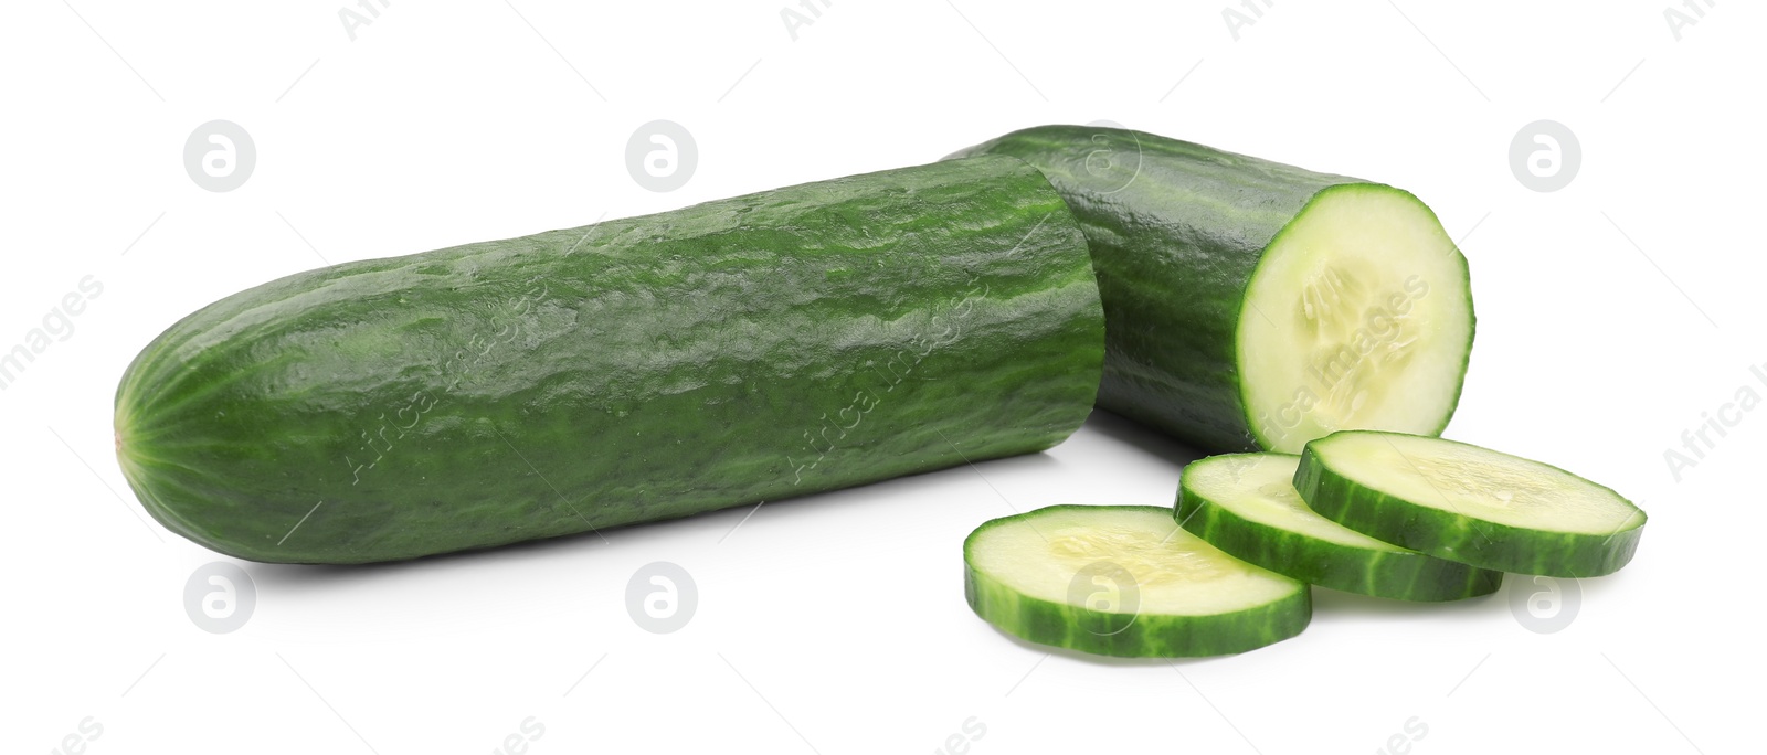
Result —
[[1440, 434], [1472, 351], [1467, 259], [1415, 196], [1140, 131], [1044, 125], [952, 157], [1043, 169], [1104, 298], [1099, 406], [1205, 452]]

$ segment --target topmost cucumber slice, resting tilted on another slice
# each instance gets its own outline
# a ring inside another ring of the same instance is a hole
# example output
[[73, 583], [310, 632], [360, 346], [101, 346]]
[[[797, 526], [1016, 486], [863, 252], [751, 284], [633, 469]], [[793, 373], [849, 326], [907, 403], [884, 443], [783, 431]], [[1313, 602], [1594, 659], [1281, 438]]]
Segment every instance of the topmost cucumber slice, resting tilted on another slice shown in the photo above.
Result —
[[1308, 443], [1295, 489], [1359, 533], [1465, 564], [1601, 577], [1638, 550], [1645, 513], [1541, 462], [1440, 437], [1346, 430]]

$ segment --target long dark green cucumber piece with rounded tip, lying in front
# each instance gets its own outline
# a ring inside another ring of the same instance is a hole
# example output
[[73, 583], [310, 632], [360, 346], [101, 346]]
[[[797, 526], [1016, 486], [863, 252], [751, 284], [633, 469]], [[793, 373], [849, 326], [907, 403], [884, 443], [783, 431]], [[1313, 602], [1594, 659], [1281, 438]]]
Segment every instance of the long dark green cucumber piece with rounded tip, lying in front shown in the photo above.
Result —
[[214, 550], [408, 559], [1044, 450], [1103, 340], [1048, 182], [938, 162], [237, 293], [127, 369], [118, 459]]

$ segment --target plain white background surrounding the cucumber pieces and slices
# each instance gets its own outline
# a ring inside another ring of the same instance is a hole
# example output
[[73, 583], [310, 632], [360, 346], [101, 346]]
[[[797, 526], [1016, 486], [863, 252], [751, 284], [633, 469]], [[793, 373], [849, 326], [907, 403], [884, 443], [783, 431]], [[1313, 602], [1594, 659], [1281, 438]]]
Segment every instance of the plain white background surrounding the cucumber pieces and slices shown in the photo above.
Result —
[[[55, 751], [88, 716], [88, 753], [486, 753], [528, 716], [541, 755], [926, 753], [972, 716], [970, 753], [1369, 753], [1414, 716], [1414, 753], [1758, 748], [1767, 411], [1679, 482], [1665, 462], [1739, 388], [1767, 395], [1749, 374], [1767, 363], [1758, 5], [1283, 2], [1237, 41], [1225, 2], [841, 0], [795, 41], [781, 0], [398, 2], [353, 41], [341, 2], [256, 5], [25, 0], [0, 23], [0, 349], [102, 282], [0, 392], [5, 750]], [[1679, 41], [1666, 7], [1696, 18]], [[256, 145], [231, 192], [182, 166], [214, 118]], [[626, 169], [656, 118], [698, 145], [675, 192]], [[1581, 145], [1564, 191], [1509, 168], [1541, 118]], [[111, 392], [141, 346], [322, 259], [1092, 120], [1424, 198], [1463, 238], [1479, 312], [1447, 434], [1638, 501], [1636, 561], [1574, 586], [1557, 633], [1518, 619], [1507, 593], [1537, 587], [1511, 579], [1445, 607], [1320, 589], [1306, 633], [1235, 658], [1046, 654], [970, 614], [959, 543], [1011, 510], [1170, 505], [1194, 452], [1099, 415], [1044, 455], [770, 503], [740, 527], [747, 510], [606, 543], [244, 564], [256, 610], [210, 635], [182, 598], [219, 556], [152, 524], [113, 460]], [[626, 614], [650, 561], [698, 584], [671, 635]]]

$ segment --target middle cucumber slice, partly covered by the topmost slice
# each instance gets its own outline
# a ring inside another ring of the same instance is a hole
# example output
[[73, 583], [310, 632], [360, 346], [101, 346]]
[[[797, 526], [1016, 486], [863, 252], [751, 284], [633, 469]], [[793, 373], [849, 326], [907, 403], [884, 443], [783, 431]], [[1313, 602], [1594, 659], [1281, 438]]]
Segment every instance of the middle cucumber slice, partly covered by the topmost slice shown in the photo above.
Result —
[[1301, 457], [1226, 453], [1191, 462], [1179, 524], [1233, 557], [1285, 577], [1376, 598], [1440, 602], [1491, 594], [1502, 572], [1384, 543], [1315, 513], [1295, 492]]

